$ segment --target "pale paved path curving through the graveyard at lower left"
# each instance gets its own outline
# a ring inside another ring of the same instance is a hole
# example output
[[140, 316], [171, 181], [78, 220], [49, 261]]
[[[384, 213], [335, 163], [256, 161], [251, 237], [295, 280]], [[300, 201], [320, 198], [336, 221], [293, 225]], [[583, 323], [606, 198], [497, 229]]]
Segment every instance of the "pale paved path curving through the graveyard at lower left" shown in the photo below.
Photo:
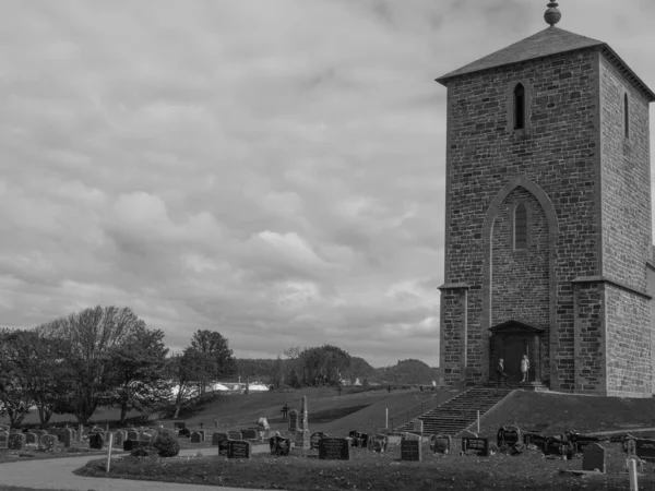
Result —
[[[181, 451], [180, 455], [195, 455], [198, 452], [201, 452], [203, 455], [215, 455], [216, 448], [186, 450]], [[73, 470], [79, 469], [88, 460], [100, 457], [95, 455], [93, 457], [50, 458], [0, 464], [0, 486], [22, 486], [35, 489], [64, 489], [75, 491], [243, 491], [243, 488], [88, 478], [73, 474]]]

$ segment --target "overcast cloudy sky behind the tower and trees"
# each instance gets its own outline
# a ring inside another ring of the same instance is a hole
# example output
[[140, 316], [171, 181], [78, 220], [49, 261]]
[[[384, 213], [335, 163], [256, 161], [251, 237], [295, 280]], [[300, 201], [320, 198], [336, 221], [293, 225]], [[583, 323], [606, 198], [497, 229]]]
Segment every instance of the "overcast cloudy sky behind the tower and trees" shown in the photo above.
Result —
[[[3, 0], [0, 324], [438, 363], [445, 95], [525, 0]], [[655, 87], [655, 2], [560, 3]]]

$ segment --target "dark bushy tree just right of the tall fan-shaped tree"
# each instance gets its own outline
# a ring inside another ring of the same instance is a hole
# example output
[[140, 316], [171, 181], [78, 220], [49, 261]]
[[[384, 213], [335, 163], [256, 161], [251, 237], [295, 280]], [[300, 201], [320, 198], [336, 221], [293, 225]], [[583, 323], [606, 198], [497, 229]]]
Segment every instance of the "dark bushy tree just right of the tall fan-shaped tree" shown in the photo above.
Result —
[[138, 325], [119, 346], [109, 350], [115, 385], [114, 403], [120, 408], [123, 424], [128, 410], [147, 411], [159, 407], [170, 395], [166, 380], [166, 355], [164, 333]]

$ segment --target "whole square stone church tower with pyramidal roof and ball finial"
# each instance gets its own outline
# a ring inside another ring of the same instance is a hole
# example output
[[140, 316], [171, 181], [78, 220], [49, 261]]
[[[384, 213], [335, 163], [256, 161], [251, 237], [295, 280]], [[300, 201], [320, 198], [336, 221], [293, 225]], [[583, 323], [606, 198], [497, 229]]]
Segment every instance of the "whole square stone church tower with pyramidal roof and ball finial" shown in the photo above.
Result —
[[504, 359], [553, 391], [651, 397], [655, 266], [648, 104], [605, 43], [555, 24], [448, 87], [440, 363], [450, 385]]

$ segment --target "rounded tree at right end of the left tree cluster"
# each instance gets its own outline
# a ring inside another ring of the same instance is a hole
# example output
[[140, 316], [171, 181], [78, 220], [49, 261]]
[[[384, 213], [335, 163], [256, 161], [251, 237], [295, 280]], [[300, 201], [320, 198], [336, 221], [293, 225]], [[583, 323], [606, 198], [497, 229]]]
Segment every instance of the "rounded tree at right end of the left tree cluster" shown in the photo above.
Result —
[[198, 352], [207, 357], [207, 367], [199, 372], [198, 383], [201, 394], [205, 393], [211, 382], [218, 381], [223, 376], [231, 375], [236, 371], [236, 360], [233, 350], [229, 349], [227, 339], [216, 331], [196, 331], [191, 338], [191, 346]]

